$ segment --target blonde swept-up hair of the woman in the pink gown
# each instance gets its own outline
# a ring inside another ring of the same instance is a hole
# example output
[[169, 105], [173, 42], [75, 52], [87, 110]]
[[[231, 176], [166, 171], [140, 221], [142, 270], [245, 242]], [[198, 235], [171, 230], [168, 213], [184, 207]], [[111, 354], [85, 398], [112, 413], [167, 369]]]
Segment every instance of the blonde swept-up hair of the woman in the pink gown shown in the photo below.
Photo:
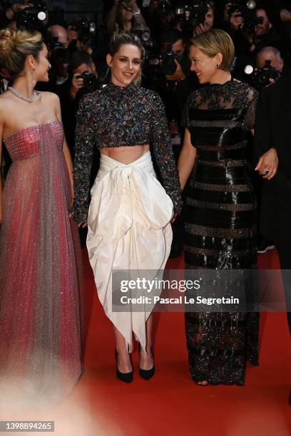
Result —
[[24, 71], [26, 56], [38, 58], [44, 46], [41, 33], [14, 28], [0, 31], [0, 66], [12, 80]]

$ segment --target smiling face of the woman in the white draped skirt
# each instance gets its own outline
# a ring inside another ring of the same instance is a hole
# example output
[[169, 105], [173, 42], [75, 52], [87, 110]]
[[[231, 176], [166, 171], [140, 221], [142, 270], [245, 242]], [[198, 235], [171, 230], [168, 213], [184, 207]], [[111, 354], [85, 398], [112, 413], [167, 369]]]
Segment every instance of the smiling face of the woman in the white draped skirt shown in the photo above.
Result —
[[106, 56], [106, 61], [111, 67], [111, 81], [114, 85], [130, 85], [141, 71], [141, 51], [132, 44], [122, 44], [114, 56]]

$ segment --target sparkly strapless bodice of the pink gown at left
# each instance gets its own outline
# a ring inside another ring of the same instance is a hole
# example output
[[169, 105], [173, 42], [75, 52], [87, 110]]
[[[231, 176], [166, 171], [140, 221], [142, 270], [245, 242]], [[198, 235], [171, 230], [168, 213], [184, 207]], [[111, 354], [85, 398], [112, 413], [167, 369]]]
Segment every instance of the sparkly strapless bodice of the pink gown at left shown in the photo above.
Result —
[[63, 128], [59, 121], [41, 125], [31, 125], [17, 130], [4, 139], [6, 148], [12, 160], [23, 160], [39, 155], [41, 137], [51, 138], [51, 144], [61, 149], [63, 145]]

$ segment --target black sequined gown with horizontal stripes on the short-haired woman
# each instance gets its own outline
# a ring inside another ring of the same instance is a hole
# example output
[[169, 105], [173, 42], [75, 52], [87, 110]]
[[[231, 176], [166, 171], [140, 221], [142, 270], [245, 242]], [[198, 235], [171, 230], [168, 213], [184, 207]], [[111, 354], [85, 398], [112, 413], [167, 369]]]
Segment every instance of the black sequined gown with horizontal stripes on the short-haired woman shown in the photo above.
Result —
[[[247, 134], [257, 92], [229, 81], [188, 98], [183, 123], [196, 147], [185, 218], [186, 269], [256, 268], [256, 202], [247, 170]], [[253, 292], [246, 289], [245, 292]], [[244, 384], [257, 364], [257, 313], [185, 313], [190, 375], [196, 382]]]

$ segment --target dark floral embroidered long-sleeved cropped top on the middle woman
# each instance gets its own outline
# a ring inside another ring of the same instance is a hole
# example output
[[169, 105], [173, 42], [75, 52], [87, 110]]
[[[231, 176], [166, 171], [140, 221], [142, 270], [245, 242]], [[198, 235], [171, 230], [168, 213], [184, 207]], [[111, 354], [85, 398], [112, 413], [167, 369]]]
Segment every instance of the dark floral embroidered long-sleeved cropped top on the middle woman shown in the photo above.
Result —
[[93, 148], [149, 144], [165, 191], [175, 211], [182, 207], [178, 171], [170, 144], [168, 124], [160, 96], [133, 83], [120, 87], [109, 83], [87, 94], [78, 108], [74, 160], [72, 214], [86, 222], [90, 204]]

